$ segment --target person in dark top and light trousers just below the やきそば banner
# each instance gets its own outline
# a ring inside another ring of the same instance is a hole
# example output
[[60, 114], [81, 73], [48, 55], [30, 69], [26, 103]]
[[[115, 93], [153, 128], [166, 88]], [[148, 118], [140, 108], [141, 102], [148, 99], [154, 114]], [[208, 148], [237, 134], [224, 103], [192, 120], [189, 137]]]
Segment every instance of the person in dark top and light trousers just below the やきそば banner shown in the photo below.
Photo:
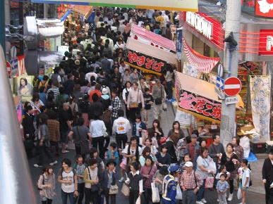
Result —
[[156, 80], [156, 85], [152, 87], [152, 97], [154, 98], [154, 119], [160, 120], [166, 93], [159, 79]]

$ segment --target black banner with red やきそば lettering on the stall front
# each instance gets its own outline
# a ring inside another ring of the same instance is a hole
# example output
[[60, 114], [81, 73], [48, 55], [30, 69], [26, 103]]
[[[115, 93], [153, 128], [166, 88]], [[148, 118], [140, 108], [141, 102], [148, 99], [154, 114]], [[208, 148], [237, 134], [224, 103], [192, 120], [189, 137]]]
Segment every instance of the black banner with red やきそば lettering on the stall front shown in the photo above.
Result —
[[128, 50], [126, 63], [133, 68], [138, 68], [155, 75], [161, 75], [162, 70], [166, 68], [167, 64], [164, 60], [159, 60], [133, 50]]

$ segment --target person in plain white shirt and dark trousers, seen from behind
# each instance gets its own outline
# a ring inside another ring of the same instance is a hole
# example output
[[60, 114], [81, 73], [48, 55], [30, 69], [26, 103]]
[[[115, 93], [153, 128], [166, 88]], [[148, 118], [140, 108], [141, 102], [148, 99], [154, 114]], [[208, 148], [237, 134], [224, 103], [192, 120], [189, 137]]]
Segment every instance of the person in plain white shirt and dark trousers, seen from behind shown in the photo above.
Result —
[[97, 149], [99, 144], [99, 157], [104, 158], [104, 134], [107, 128], [102, 120], [99, 120], [99, 116], [95, 115], [95, 120], [90, 122], [90, 134], [92, 136], [92, 146]]

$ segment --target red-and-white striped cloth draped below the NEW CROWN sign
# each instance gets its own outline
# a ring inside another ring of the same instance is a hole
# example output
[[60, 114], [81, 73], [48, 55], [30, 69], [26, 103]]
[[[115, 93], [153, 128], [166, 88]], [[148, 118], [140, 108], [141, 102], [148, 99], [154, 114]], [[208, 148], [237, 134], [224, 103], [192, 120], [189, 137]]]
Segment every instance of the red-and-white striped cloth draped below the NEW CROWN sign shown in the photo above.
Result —
[[220, 58], [210, 58], [202, 56], [200, 53], [192, 49], [183, 38], [183, 49], [186, 54], [188, 63], [195, 65], [195, 67], [203, 73], [210, 73]]

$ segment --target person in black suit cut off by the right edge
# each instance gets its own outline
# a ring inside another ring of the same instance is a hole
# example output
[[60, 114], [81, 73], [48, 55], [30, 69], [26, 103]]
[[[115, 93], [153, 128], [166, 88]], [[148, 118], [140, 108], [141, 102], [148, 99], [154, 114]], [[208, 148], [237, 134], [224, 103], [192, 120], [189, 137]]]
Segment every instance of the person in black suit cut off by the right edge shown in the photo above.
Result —
[[262, 165], [262, 182], [265, 184], [265, 202], [269, 204], [269, 200], [273, 202], [273, 149]]

